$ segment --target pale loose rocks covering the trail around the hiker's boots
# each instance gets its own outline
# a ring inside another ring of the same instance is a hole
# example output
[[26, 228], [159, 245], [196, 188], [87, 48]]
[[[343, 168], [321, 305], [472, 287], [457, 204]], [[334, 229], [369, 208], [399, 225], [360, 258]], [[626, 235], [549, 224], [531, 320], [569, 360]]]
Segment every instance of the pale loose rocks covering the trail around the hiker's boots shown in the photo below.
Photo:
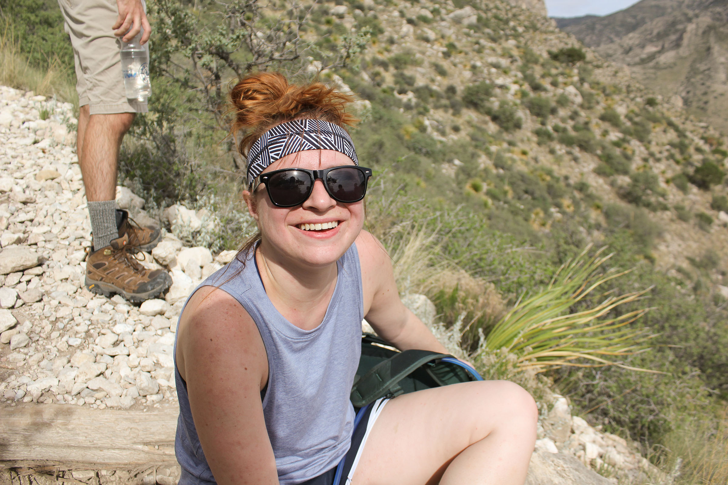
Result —
[[[0, 88], [0, 401], [98, 409], [171, 403], [184, 300], [234, 252], [213, 257], [166, 234], [152, 254], [140, 255], [143, 265], [170, 270], [165, 300], [135, 306], [84, 289], [90, 223], [71, 108]], [[117, 201], [150, 222], [143, 199], [127, 188], [118, 188]], [[181, 206], [165, 215], [199, 221]]]

